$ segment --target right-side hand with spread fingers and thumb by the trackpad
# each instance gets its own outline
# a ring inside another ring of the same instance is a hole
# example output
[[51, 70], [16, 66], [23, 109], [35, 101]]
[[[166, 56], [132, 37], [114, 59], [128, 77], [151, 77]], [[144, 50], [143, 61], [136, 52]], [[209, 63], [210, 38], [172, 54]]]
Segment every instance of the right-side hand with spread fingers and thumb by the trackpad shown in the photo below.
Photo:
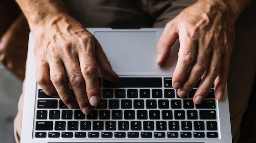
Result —
[[171, 46], [180, 40], [173, 88], [186, 96], [200, 78], [202, 81], [193, 101], [200, 104], [215, 81], [215, 97], [222, 99], [234, 46], [236, 20], [225, 2], [199, 0], [168, 22], [158, 43], [157, 64], [163, 65]]

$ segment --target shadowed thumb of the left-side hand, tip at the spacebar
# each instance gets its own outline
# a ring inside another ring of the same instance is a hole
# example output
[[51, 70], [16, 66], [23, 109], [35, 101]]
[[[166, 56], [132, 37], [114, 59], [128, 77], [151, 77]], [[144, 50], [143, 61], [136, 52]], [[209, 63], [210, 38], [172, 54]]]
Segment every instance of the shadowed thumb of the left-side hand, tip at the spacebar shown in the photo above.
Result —
[[106, 78], [107, 80], [117, 81], [119, 76], [116, 72], [113, 71], [106, 54], [103, 52], [103, 49], [101, 48], [101, 45], [97, 40], [95, 48], [95, 58], [98, 64], [99, 74], [101, 75], [101, 77]]

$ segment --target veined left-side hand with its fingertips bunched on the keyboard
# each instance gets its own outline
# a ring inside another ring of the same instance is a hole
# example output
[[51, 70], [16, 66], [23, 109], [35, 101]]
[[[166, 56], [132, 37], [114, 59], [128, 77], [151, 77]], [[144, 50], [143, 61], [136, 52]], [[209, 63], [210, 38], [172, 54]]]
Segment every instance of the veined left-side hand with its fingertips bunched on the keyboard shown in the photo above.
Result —
[[36, 39], [38, 85], [47, 95], [60, 97], [67, 107], [75, 108], [78, 103], [84, 114], [90, 114], [101, 98], [98, 73], [107, 80], [118, 80], [97, 39], [65, 14], [48, 15], [31, 31]]

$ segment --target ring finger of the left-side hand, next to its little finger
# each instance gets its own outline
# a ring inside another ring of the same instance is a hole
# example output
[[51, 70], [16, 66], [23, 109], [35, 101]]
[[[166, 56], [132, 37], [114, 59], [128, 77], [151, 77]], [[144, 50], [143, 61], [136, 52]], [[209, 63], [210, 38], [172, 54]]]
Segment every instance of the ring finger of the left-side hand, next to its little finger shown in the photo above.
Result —
[[76, 108], [77, 102], [67, 83], [63, 62], [59, 58], [54, 58], [49, 62], [49, 66], [52, 83], [61, 100], [68, 108]]

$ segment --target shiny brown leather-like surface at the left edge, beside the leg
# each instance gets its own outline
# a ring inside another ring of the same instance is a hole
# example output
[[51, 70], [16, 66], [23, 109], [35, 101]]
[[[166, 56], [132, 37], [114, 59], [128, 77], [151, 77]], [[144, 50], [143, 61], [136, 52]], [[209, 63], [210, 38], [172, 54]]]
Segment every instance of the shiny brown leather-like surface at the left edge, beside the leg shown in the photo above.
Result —
[[25, 78], [28, 35], [29, 26], [21, 14], [0, 39], [0, 62], [20, 80]]

